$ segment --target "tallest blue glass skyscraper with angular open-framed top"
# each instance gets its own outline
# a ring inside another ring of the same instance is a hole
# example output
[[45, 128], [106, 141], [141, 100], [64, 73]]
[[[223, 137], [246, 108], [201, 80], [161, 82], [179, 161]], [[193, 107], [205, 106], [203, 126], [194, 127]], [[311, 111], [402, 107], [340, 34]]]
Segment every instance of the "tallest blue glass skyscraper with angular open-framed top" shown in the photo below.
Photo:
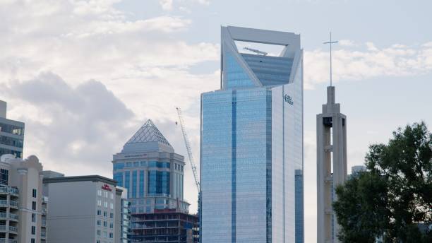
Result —
[[222, 27], [221, 56], [220, 90], [201, 95], [201, 242], [304, 242], [300, 36]]

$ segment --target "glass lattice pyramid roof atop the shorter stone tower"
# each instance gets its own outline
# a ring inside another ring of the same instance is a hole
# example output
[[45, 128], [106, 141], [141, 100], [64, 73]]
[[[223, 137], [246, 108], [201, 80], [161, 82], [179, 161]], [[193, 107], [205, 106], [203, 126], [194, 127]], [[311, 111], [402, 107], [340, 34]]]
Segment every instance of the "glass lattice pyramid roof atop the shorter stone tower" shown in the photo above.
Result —
[[168, 152], [174, 153], [174, 148], [167, 138], [157, 129], [152, 120], [148, 119], [140, 129], [124, 145], [121, 153]]

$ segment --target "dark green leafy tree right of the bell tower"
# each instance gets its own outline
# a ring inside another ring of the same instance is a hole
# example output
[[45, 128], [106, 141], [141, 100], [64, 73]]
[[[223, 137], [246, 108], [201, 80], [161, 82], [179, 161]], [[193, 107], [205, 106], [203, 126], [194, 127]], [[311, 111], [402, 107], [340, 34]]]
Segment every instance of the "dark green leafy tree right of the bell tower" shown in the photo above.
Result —
[[367, 172], [336, 189], [342, 242], [432, 242], [432, 134], [424, 122], [397, 129], [366, 154]]

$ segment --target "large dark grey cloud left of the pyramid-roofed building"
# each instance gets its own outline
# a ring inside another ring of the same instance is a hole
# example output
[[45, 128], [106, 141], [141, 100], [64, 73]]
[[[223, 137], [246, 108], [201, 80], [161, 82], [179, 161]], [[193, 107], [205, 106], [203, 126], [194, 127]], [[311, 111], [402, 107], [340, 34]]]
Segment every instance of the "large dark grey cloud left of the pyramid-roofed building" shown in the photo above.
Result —
[[11, 105], [8, 117], [25, 121], [25, 155], [62, 172], [83, 171], [71, 171], [72, 164], [101, 171], [136, 124], [133, 112], [97, 81], [73, 88], [54, 73], [41, 73], [4, 85], [1, 95]]

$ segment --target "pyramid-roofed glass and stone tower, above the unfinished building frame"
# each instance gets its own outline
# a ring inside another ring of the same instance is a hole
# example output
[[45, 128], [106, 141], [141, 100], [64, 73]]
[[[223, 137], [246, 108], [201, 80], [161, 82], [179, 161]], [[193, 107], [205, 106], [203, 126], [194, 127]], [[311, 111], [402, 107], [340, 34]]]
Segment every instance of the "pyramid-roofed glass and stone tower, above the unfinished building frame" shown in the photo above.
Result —
[[[114, 155], [113, 178], [128, 189], [132, 213], [176, 209], [188, 212], [184, 201], [184, 157], [148, 120]], [[179, 204], [179, 205], [178, 205]]]

